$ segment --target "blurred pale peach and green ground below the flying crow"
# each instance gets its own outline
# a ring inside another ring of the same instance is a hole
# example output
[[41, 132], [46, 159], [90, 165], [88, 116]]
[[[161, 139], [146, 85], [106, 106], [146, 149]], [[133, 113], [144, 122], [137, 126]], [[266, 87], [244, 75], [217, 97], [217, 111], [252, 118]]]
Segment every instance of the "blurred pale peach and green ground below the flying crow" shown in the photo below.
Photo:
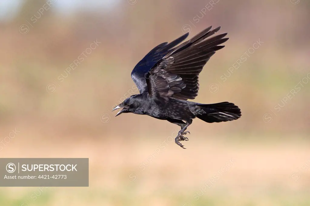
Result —
[[[148, 159], [166, 137], [125, 142], [119, 139], [96, 142], [84, 137], [84, 141], [72, 143], [65, 140], [71, 139], [68, 136], [61, 142], [48, 142], [40, 136], [33, 139], [20, 133], [3, 148], [2, 157], [89, 157], [90, 186], [48, 187], [42, 192], [39, 187], [0, 188], [0, 205], [19, 206], [22, 202], [37, 206], [309, 204], [310, 173], [301, 167], [310, 157], [307, 142], [303, 144], [292, 137], [281, 143], [262, 142], [259, 138], [240, 142], [233, 138], [231, 141], [192, 135], [189, 138], [186, 150], [167, 141], [165, 149]], [[218, 170], [231, 158], [235, 160], [232, 167], [219, 174]], [[137, 175], [133, 182], [128, 176], [131, 172]], [[298, 182], [290, 179], [292, 172], [299, 172]], [[214, 174], [219, 174], [219, 179], [210, 184]], [[211, 187], [205, 187], [206, 184]]]

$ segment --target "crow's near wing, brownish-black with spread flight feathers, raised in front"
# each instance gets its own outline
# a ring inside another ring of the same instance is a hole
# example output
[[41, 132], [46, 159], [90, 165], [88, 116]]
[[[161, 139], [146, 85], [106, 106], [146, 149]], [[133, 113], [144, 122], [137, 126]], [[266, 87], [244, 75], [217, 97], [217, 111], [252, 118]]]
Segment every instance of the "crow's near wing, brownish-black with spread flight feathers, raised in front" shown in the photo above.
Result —
[[[148, 72], [146, 81], [150, 96], [195, 99], [198, 95], [198, 76], [206, 62], [222, 49], [227, 33], [212, 36], [220, 27], [206, 28], [192, 39], [176, 47]], [[210, 37], [210, 38], [208, 38]]]

